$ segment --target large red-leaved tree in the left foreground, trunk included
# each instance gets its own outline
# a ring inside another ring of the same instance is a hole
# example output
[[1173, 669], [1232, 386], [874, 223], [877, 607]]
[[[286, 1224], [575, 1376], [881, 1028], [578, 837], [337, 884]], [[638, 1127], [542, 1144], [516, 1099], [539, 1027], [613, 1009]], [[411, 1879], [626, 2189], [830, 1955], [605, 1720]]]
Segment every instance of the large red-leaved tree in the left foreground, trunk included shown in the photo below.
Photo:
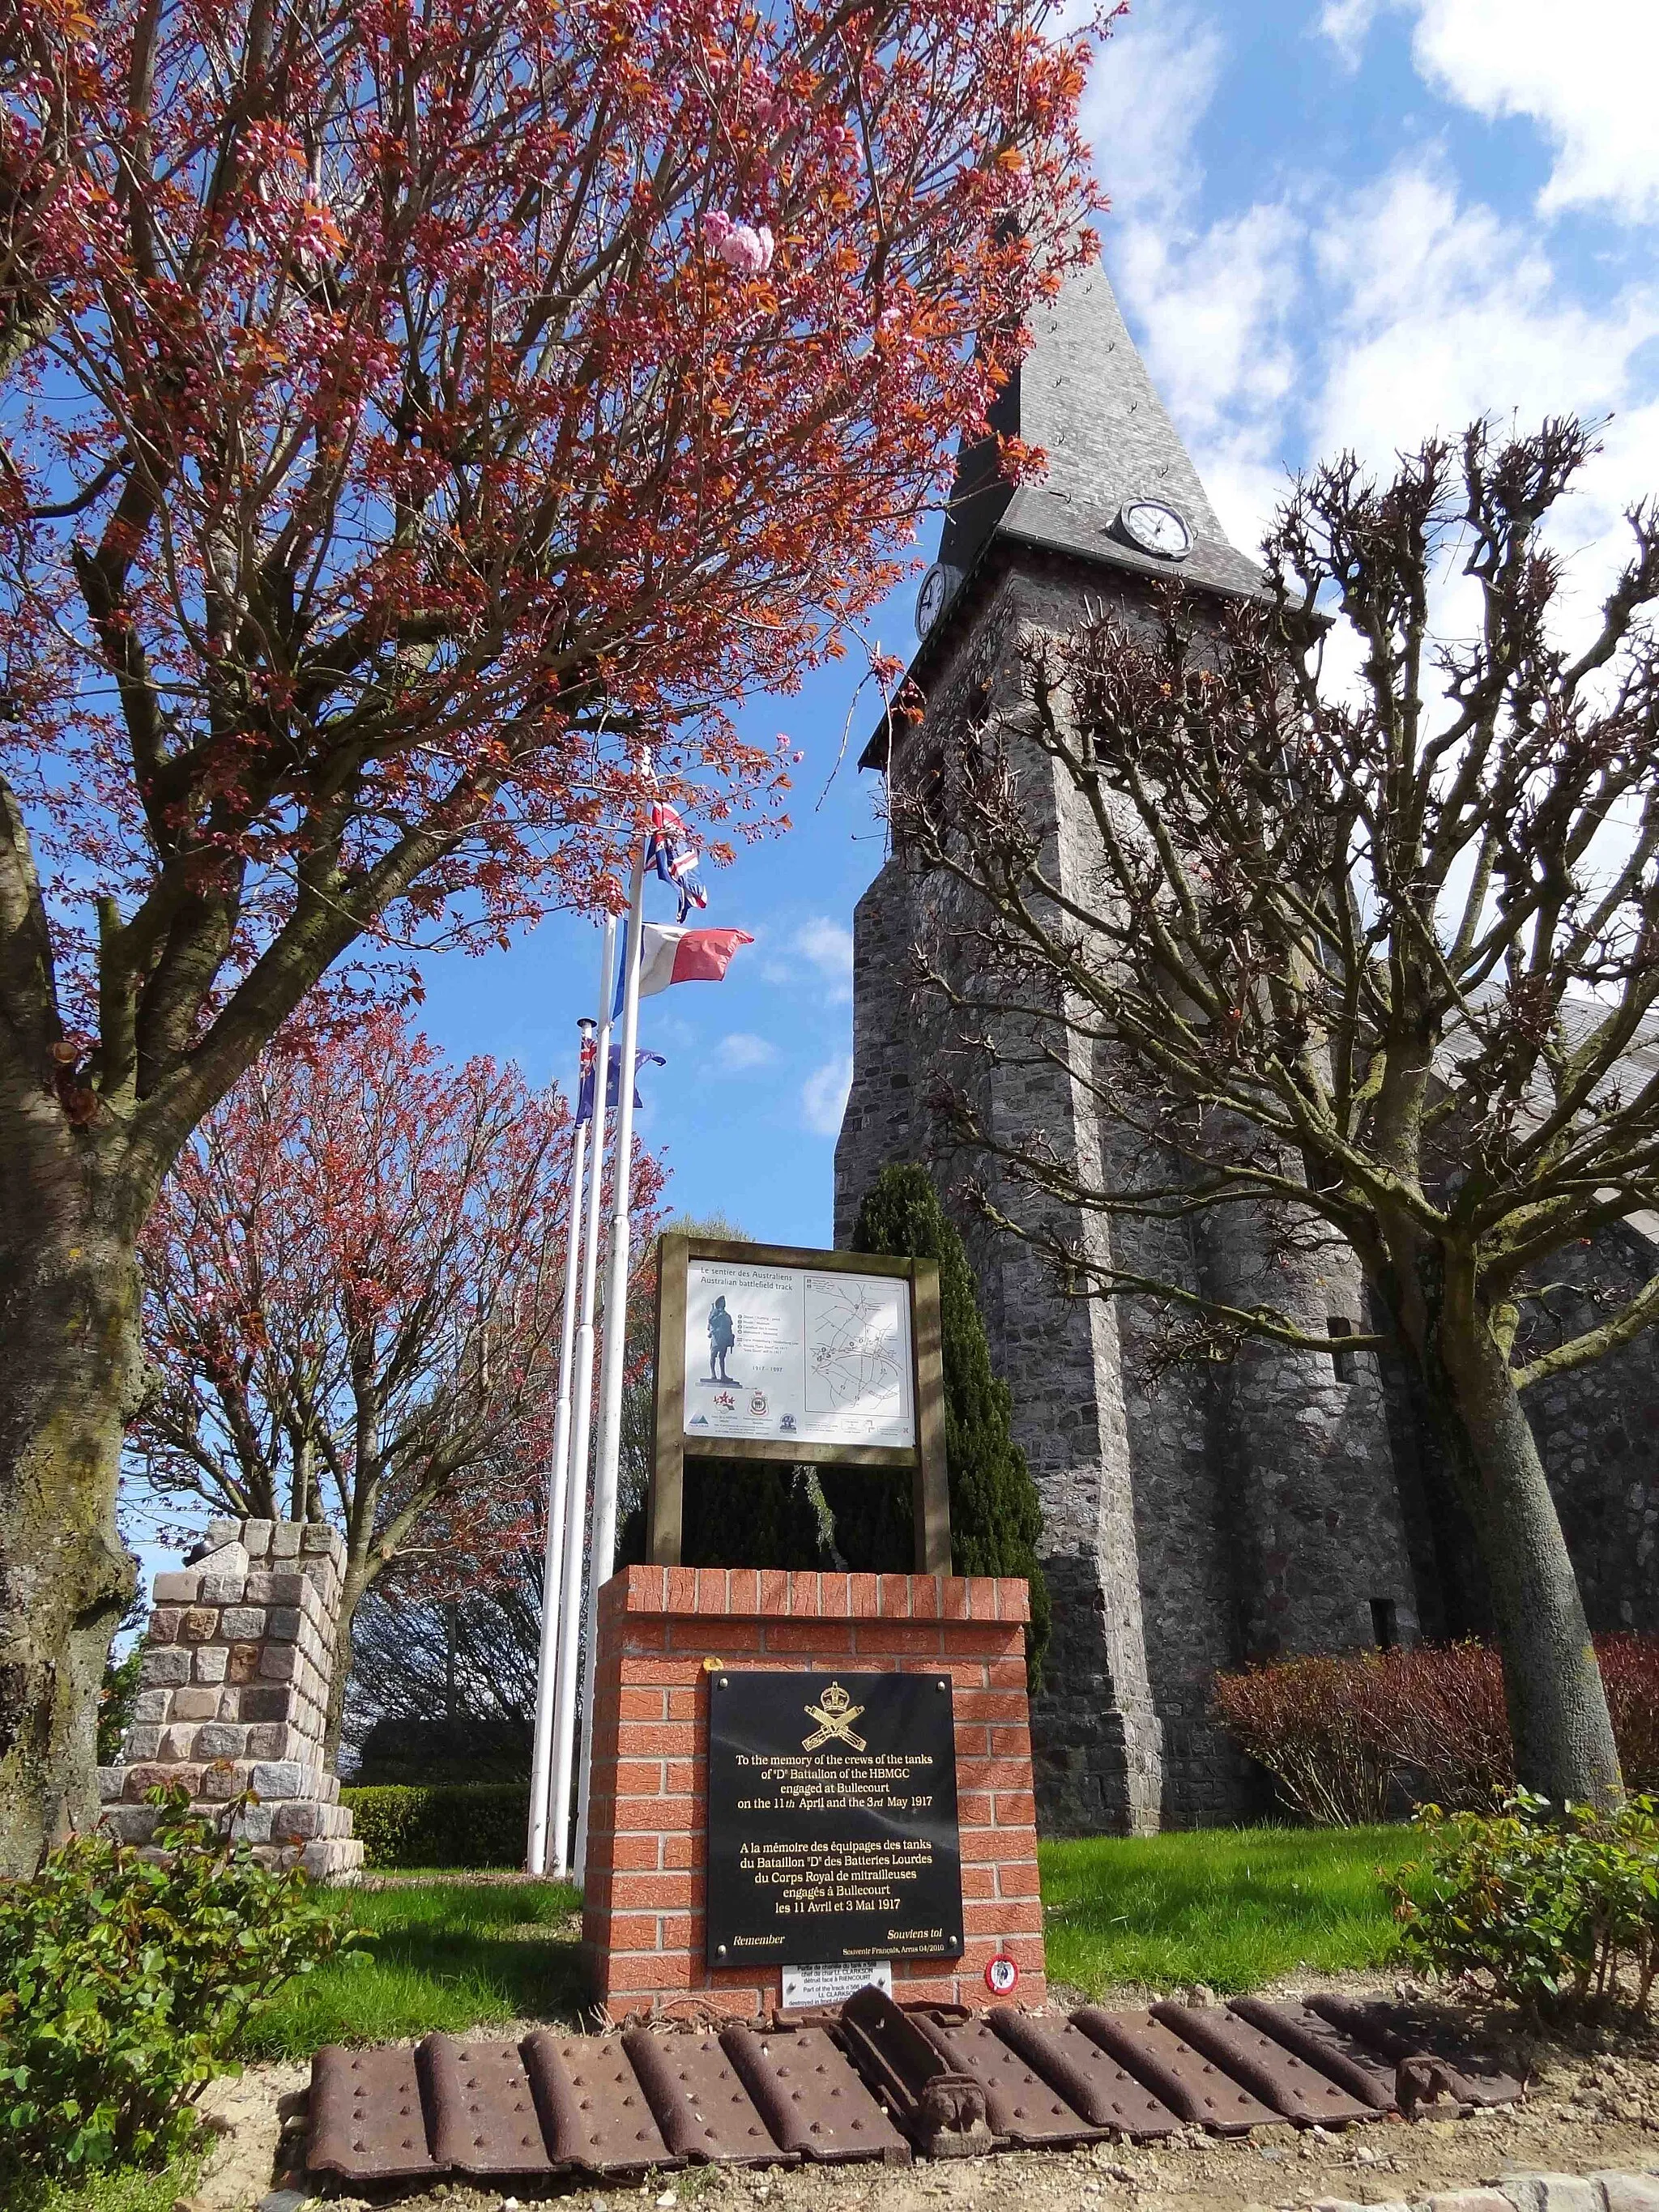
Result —
[[0, 31], [0, 1867], [93, 1807], [179, 1148], [358, 942], [613, 896], [646, 745], [779, 818], [721, 701], [841, 650], [1088, 250], [1084, 62], [1053, 0]]

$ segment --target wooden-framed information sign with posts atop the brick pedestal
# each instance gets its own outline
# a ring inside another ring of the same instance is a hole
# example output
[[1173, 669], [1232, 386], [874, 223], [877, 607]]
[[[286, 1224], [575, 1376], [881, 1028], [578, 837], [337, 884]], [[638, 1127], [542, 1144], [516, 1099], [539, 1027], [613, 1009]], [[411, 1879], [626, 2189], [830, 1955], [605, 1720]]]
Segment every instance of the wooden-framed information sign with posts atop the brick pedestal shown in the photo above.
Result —
[[688, 1458], [911, 1471], [916, 1568], [951, 1573], [938, 1265], [670, 1232], [657, 1245], [653, 1566]]

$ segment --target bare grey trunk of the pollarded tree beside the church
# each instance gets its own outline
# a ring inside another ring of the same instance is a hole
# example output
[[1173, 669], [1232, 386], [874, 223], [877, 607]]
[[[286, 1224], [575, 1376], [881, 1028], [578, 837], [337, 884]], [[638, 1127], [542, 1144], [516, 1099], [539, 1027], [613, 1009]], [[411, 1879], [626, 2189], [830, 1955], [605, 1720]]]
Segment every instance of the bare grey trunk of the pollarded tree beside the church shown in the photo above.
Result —
[[1573, 1559], [1509, 1358], [1478, 1307], [1440, 1316], [1429, 1398], [1491, 1584], [1515, 1776], [1555, 1805], [1624, 1794]]

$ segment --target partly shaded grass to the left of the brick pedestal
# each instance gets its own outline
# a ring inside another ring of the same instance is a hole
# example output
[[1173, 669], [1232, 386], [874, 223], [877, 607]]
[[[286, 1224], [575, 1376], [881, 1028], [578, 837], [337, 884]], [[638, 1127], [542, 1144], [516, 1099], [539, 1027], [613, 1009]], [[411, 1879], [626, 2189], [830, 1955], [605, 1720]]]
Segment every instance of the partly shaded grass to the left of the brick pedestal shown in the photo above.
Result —
[[573, 1913], [562, 1882], [476, 1887], [431, 1880], [347, 1891], [343, 1918], [369, 1929], [363, 1953], [288, 1984], [250, 2022], [248, 2057], [305, 2059], [319, 2044], [396, 2042], [511, 2020], [573, 2022], [582, 2006]]

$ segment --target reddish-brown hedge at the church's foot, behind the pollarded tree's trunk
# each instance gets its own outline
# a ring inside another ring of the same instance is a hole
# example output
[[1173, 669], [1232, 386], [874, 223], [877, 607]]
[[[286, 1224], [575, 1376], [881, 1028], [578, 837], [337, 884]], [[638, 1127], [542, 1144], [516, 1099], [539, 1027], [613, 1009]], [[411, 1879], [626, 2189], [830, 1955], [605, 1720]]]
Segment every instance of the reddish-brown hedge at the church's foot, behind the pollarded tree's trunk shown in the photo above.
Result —
[[[1659, 1792], [1659, 1637], [1597, 1637], [1619, 1765]], [[1321, 1827], [1387, 1818], [1400, 1801], [1491, 1812], [1515, 1785], [1504, 1670], [1484, 1644], [1281, 1659], [1217, 1674], [1214, 1710]]]

